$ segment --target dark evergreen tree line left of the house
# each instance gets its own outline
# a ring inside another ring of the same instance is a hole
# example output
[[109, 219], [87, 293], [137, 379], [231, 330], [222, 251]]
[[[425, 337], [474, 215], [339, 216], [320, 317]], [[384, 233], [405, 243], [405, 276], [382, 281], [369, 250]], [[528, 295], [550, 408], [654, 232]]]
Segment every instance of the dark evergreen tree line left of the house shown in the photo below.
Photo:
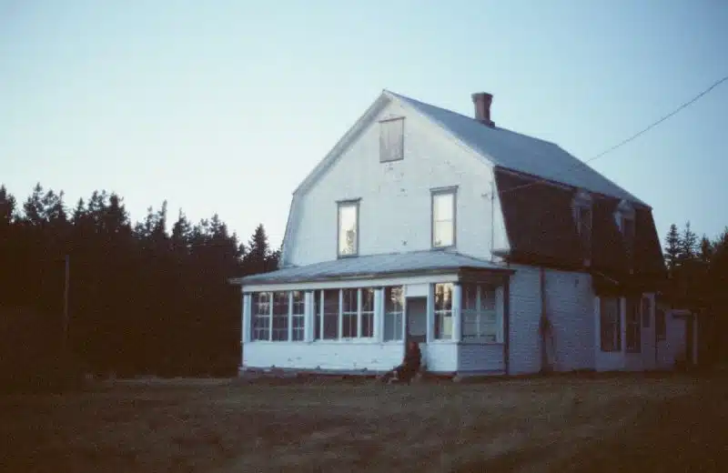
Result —
[[241, 303], [227, 278], [272, 270], [279, 252], [262, 225], [244, 244], [217, 214], [193, 224], [180, 210], [171, 231], [167, 220], [166, 201], [133, 223], [115, 193], [69, 208], [40, 184], [23, 202], [0, 186], [5, 363], [32, 370], [66, 343], [86, 372], [234, 373]]

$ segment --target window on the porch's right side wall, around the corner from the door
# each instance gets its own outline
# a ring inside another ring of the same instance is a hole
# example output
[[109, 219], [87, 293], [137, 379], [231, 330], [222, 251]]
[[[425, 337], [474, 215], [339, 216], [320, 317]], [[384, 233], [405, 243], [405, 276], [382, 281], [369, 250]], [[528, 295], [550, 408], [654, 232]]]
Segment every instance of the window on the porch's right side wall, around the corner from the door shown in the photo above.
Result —
[[463, 285], [462, 338], [498, 342], [500, 334], [495, 306], [495, 287]]

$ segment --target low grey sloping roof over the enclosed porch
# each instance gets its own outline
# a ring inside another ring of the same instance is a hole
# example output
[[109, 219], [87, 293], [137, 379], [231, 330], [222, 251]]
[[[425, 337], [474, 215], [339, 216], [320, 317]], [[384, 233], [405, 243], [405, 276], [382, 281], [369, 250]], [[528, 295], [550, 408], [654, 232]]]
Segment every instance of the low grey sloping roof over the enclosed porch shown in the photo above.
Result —
[[393, 277], [442, 273], [460, 269], [490, 270], [511, 273], [512, 270], [484, 259], [443, 250], [410, 251], [363, 257], [342, 257], [301, 267], [285, 267], [269, 273], [234, 277], [234, 285], [315, 282], [331, 279]]

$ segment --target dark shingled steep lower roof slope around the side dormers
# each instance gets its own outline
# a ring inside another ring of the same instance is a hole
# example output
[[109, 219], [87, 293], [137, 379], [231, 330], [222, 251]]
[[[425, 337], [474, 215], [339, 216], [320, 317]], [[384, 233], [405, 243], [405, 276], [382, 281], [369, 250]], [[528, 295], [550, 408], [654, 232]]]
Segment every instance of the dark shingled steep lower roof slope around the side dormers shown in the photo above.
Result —
[[[512, 262], [582, 269], [584, 250], [571, 211], [578, 189], [544, 182], [508, 169], [496, 168], [496, 185]], [[528, 185], [528, 186], [526, 186]], [[516, 189], [516, 187], [524, 186]], [[622, 233], [614, 219], [620, 199], [592, 194], [591, 271], [617, 281], [654, 284], [664, 275], [662, 248], [652, 210], [635, 208], [633, 275], [627, 266]]]

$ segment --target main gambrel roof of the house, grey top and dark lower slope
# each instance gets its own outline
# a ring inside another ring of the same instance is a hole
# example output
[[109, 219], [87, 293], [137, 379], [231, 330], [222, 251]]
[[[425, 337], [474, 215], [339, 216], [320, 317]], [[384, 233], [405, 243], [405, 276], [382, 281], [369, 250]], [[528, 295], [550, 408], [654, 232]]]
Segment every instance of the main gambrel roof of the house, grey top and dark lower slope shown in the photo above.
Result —
[[[339, 158], [360, 133], [390, 102], [425, 118], [443, 136], [480, 156], [493, 167], [504, 224], [510, 243], [508, 258], [532, 264], [555, 262], [564, 267], [581, 267], [580, 240], [572, 214], [575, 196], [588, 191], [593, 199], [591, 267], [608, 273], [629, 273], [626, 248], [614, 217], [619, 206], [635, 211], [635, 273], [657, 275], [664, 271], [662, 249], [652, 219], [652, 208], [621, 186], [602, 176], [583, 161], [554, 143], [522, 135], [500, 126], [432, 106], [408, 96], [384, 90], [341, 137], [319, 165], [293, 194], [284, 237], [281, 264], [285, 267], [290, 219], [297, 203], [319, 176]], [[526, 185], [526, 188], [521, 188]], [[518, 187], [518, 190], [515, 190]], [[356, 258], [359, 259], [359, 258]]]

